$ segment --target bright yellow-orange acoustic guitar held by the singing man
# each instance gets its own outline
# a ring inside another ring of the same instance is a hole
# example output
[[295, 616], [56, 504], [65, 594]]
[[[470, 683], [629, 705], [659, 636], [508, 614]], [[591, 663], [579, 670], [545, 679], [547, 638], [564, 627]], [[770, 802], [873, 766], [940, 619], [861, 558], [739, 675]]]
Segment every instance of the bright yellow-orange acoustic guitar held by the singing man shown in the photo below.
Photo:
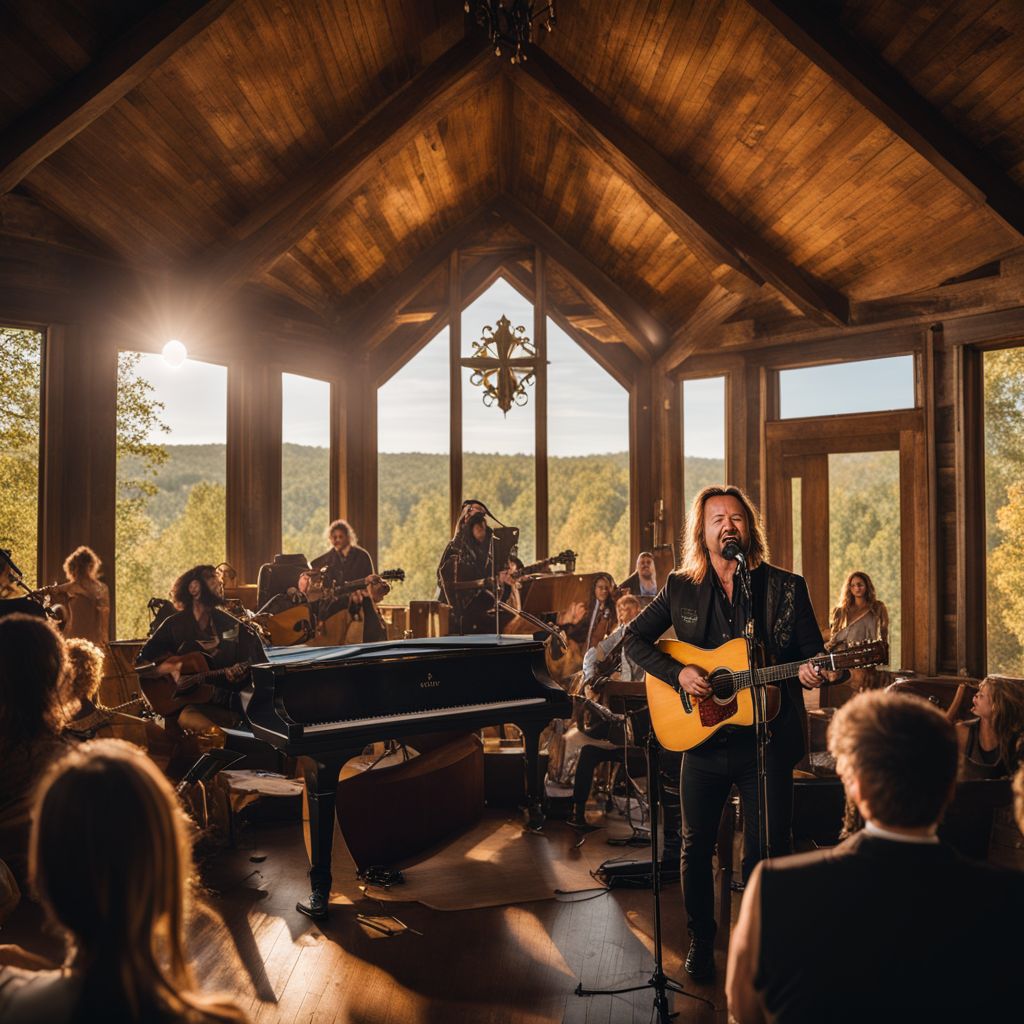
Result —
[[681, 640], [658, 640], [657, 648], [681, 666], [695, 665], [702, 669], [712, 689], [708, 696], [693, 696], [647, 673], [644, 685], [651, 725], [658, 742], [669, 751], [691, 751], [726, 725], [754, 725], [752, 687], [755, 685], [765, 690], [765, 719], [771, 721], [781, 702], [779, 688], [772, 684], [795, 679], [806, 662], [828, 672], [840, 672], [885, 665], [889, 660], [889, 645], [884, 640], [874, 640], [833, 654], [768, 665], [758, 670], [755, 680], [742, 637], [714, 650]]

